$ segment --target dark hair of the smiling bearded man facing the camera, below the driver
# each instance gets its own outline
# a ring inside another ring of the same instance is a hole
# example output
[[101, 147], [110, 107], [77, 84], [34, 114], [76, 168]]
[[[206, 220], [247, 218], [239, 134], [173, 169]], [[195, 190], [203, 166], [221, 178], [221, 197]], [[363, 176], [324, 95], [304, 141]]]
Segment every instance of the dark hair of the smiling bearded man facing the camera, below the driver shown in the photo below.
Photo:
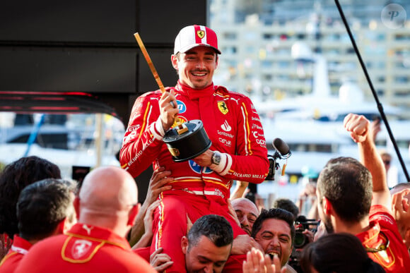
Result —
[[293, 245], [293, 240], [295, 239], [295, 218], [291, 212], [283, 209], [262, 210], [252, 226], [252, 233], [250, 234], [252, 238], [255, 238], [257, 233], [262, 229], [262, 224], [266, 219], [279, 219], [286, 222], [291, 228], [291, 240]]

